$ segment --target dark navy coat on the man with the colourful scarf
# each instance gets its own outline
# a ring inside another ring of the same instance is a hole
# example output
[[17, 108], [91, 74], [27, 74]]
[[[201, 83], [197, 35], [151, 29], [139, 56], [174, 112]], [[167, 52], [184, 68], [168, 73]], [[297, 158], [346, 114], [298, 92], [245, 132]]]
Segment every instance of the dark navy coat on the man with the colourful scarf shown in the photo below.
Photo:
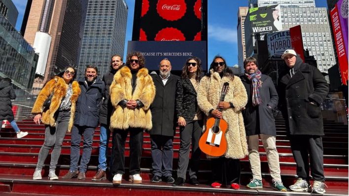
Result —
[[[262, 102], [258, 106], [252, 104], [251, 81], [247, 76], [242, 76], [241, 81], [247, 92], [247, 104], [243, 110], [246, 135], [266, 134], [276, 136], [275, 120], [273, 109], [278, 105], [278, 93], [275, 89], [272, 78], [261, 76], [262, 86], [259, 89]], [[267, 107], [270, 105], [272, 109]]]

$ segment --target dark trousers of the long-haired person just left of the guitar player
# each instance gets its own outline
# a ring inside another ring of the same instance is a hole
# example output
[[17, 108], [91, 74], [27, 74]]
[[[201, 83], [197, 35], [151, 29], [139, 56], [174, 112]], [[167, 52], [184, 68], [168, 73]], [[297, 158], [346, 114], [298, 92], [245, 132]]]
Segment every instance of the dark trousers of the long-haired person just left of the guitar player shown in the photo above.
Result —
[[179, 128], [180, 147], [177, 177], [185, 178], [185, 173], [189, 164], [190, 142], [192, 144], [191, 159], [189, 164], [189, 177], [197, 178], [199, 170], [201, 150], [199, 140], [203, 131], [203, 121], [186, 121], [185, 127]]

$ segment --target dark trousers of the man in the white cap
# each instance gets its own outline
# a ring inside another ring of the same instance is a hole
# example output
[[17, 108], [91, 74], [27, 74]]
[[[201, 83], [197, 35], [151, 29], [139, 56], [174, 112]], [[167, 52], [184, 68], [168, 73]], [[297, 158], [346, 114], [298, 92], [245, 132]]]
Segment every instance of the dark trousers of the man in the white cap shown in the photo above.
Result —
[[314, 180], [324, 182], [322, 137], [319, 135], [291, 135], [290, 144], [293, 158], [297, 164], [298, 177], [309, 180], [310, 169]]

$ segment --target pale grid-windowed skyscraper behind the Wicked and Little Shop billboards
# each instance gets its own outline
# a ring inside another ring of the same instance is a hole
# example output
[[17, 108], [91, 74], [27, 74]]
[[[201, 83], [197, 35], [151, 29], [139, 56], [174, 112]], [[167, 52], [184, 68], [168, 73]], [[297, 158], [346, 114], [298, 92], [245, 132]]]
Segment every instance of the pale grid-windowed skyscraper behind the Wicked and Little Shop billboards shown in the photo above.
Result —
[[[249, 4], [258, 7], [279, 4], [282, 30], [301, 25], [304, 48], [309, 49], [310, 55], [314, 55], [317, 68], [327, 73], [327, 69], [336, 64], [325, 7], [315, 7], [314, 0], [250, 0]], [[252, 39], [252, 36], [247, 38]]]

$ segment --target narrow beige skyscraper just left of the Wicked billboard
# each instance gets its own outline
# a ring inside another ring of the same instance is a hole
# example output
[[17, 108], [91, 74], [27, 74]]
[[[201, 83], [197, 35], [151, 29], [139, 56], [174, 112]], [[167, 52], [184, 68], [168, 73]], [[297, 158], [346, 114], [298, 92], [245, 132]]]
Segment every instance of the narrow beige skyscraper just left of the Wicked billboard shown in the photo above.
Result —
[[[248, 7], [239, 7], [238, 11], [238, 65], [244, 70], [245, 49], [245, 29], [244, 21], [248, 12]], [[241, 43], [241, 44], [240, 44]]]

